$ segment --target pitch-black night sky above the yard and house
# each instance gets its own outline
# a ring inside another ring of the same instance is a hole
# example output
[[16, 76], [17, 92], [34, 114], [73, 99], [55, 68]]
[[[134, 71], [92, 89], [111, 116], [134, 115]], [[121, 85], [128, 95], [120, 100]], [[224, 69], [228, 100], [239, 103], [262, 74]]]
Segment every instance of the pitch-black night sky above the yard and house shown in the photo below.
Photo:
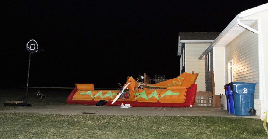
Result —
[[118, 87], [127, 76], [180, 74], [179, 32], [221, 32], [268, 1], [1, 1], [0, 87]]

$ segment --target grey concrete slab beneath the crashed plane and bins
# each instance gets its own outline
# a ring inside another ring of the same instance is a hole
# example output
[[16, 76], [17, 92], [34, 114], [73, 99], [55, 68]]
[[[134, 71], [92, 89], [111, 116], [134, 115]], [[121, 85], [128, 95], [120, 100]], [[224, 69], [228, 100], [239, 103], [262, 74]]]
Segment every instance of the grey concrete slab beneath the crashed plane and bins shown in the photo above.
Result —
[[0, 112], [7, 113], [38, 113], [38, 114], [91, 114], [91, 115], [144, 115], [144, 116], [226, 116], [260, 118], [259, 116], [236, 116], [227, 110], [210, 106], [189, 107], [130, 107], [91, 106], [91, 105], [44, 105], [27, 108], [16, 108]]

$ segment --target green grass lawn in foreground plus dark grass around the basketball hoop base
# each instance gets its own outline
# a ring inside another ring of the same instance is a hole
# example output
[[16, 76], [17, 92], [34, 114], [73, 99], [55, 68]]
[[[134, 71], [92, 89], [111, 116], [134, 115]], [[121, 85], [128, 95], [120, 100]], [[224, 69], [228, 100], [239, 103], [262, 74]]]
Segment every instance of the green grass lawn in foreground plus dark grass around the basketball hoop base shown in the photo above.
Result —
[[[10, 91], [12, 90], [0, 90], [1, 105], [4, 104], [2, 100], [18, 98], [16, 95], [20, 91]], [[70, 93], [69, 90], [40, 91], [48, 97], [45, 99], [29, 97], [28, 102], [33, 106], [66, 104]], [[4, 110], [10, 107], [2, 105], [0, 108]], [[268, 138], [261, 120], [240, 117], [95, 116], [0, 112], [0, 119], [0, 138]]]

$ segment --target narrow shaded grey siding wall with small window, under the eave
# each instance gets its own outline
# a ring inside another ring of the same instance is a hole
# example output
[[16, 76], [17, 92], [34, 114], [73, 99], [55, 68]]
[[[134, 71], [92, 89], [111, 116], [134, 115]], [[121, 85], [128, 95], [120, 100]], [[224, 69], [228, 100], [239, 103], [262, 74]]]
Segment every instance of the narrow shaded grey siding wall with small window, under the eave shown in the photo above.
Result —
[[[209, 53], [209, 65], [208, 67], [208, 53]], [[213, 49], [211, 49], [205, 55], [205, 84], [206, 84], [206, 91], [212, 91], [212, 83], [211, 83], [211, 71], [213, 70]], [[208, 70], [210, 68], [210, 70]]]

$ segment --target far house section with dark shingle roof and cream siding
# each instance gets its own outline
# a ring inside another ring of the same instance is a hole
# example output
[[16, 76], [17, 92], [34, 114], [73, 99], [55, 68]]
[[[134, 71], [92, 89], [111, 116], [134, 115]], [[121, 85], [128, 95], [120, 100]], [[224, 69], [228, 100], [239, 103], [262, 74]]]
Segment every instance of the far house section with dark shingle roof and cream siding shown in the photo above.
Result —
[[180, 56], [180, 72], [199, 73], [196, 83], [197, 91], [205, 91], [205, 63], [198, 57], [214, 41], [220, 32], [180, 32], [178, 55]]

